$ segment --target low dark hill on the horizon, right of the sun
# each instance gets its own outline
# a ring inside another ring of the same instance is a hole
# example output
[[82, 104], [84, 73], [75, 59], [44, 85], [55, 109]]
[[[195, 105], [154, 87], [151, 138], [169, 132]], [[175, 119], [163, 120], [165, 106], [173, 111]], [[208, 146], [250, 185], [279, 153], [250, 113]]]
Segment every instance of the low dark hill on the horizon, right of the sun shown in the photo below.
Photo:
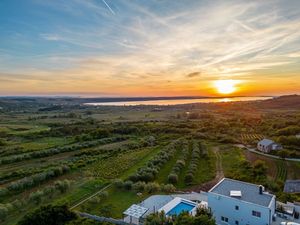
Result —
[[255, 104], [262, 109], [300, 109], [300, 95], [284, 95]]

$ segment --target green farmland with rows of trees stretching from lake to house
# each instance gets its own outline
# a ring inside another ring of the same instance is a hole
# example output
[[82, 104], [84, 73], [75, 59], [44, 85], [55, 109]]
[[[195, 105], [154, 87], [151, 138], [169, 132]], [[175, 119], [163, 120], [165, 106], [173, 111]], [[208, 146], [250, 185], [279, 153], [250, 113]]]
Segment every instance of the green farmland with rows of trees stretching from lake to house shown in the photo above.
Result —
[[198, 191], [222, 176], [262, 183], [279, 194], [285, 179], [300, 179], [297, 162], [234, 147], [267, 136], [297, 153], [292, 135], [298, 110], [277, 113], [254, 103], [92, 107], [82, 100], [15, 101], [0, 101], [4, 225], [49, 203], [120, 218], [151, 194]]

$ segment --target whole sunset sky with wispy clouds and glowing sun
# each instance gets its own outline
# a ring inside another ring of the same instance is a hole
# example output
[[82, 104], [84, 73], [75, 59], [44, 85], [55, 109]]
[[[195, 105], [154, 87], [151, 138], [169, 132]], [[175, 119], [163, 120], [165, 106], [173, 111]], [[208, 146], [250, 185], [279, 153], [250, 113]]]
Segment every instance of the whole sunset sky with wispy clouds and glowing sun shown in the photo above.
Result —
[[294, 93], [299, 0], [0, 1], [0, 95]]

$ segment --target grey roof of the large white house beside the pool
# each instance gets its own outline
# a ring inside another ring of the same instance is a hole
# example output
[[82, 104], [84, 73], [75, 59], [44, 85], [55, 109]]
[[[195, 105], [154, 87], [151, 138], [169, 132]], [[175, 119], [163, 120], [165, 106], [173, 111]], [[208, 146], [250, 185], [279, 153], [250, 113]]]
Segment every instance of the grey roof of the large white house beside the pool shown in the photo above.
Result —
[[[240, 191], [241, 196], [232, 197], [232, 191]], [[263, 192], [259, 193], [259, 185], [246, 183], [243, 181], [224, 178], [215, 185], [209, 192], [224, 195], [230, 198], [268, 207], [274, 195]]]

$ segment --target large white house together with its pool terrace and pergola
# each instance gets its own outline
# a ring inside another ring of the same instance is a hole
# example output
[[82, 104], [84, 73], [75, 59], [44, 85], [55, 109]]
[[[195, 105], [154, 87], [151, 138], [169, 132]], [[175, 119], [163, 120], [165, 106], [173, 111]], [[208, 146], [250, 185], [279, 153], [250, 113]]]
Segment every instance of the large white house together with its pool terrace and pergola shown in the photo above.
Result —
[[151, 213], [195, 215], [198, 207], [204, 207], [212, 212], [217, 225], [271, 225], [275, 204], [275, 195], [263, 186], [224, 178], [209, 192], [153, 195], [130, 206], [123, 214], [125, 222], [142, 224]]

